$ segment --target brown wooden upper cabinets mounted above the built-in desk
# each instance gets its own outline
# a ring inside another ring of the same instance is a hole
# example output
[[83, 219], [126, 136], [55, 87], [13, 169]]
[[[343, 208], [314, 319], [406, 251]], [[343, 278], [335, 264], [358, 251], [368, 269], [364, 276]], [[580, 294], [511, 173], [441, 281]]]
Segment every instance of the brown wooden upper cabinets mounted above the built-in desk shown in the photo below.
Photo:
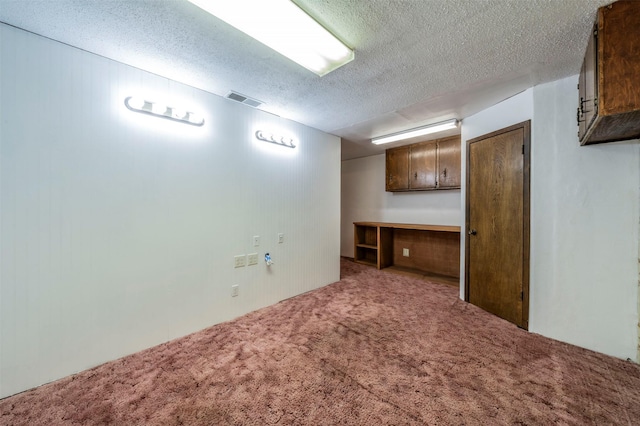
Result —
[[386, 190], [460, 188], [460, 136], [387, 149]]

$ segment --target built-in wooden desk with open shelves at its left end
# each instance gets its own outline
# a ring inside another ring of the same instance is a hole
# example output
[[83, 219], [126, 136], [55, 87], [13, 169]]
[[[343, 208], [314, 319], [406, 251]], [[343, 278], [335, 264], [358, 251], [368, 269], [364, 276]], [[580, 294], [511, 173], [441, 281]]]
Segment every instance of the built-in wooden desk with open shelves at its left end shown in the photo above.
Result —
[[378, 269], [396, 266], [460, 277], [459, 226], [386, 222], [354, 222], [353, 225], [356, 262]]

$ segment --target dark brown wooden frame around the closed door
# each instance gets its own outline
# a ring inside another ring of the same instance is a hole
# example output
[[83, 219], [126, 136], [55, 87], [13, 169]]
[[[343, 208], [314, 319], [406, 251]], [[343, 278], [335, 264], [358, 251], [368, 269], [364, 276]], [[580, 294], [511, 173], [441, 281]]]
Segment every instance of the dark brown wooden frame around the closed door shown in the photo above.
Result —
[[488, 133], [486, 135], [478, 136], [467, 141], [466, 146], [466, 177], [465, 177], [465, 260], [464, 260], [464, 300], [469, 302], [469, 184], [471, 175], [469, 173], [470, 167], [470, 148], [472, 143], [479, 142], [484, 139], [489, 139], [494, 136], [508, 133], [513, 130], [523, 129], [523, 163], [522, 163], [522, 328], [529, 329], [529, 270], [530, 270], [530, 227], [531, 227], [531, 120], [523, 121], [513, 126], [505, 127], [504, 129], [496, 130], [495, 132]]

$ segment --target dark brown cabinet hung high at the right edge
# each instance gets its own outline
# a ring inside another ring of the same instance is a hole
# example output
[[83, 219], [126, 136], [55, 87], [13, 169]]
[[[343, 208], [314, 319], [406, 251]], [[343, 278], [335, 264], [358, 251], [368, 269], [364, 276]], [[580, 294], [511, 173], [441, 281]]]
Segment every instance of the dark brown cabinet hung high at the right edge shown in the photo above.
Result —
[[640, 138], [640, 1], [598, 9], [578, 81], [581, 145]]

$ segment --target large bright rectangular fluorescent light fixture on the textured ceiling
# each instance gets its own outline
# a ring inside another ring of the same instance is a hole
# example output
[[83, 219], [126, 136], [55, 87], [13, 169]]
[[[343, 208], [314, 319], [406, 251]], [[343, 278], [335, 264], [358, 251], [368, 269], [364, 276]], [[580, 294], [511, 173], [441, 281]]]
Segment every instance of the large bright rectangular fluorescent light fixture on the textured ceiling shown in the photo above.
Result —
[[322, 77], [351, 62], [349, 49], [290, 0], [189, 0]]

